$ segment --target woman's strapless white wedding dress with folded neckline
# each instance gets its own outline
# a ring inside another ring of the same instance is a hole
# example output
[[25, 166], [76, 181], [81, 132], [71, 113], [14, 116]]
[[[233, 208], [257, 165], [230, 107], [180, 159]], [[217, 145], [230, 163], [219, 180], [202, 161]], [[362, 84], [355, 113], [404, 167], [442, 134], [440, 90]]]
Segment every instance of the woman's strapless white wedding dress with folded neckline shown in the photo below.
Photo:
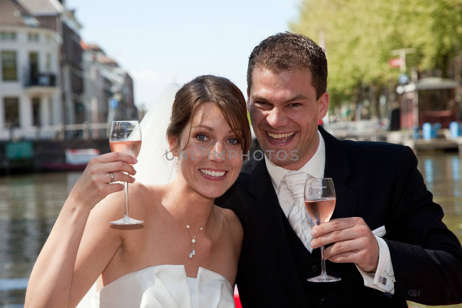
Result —
[[199, 267], [197, 278], [183, 265], [157, 265], [132, 272], [96, 292], [93, 285], [77, 308], [233, 308], [233, 287], [219, 273]]

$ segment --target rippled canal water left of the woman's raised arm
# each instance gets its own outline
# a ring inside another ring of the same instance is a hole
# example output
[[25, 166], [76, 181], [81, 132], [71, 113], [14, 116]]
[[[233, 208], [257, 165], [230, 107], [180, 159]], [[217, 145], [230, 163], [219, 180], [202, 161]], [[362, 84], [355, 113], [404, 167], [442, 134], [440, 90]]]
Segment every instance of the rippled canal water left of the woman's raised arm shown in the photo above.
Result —
[[80, 172], [0, 178], [0, 307], [24, 303], [24, 287]]

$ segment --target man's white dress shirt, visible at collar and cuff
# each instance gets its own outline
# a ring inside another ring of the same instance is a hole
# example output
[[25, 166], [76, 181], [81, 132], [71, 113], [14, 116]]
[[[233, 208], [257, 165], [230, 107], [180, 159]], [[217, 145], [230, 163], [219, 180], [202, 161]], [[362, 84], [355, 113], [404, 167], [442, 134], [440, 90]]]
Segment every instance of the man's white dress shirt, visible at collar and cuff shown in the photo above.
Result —
[[[326, 165], [326, 146], [324, 144], [324, 139], [321, 136], [321, 133], [318, 131], [319, 135], [319, 145], [318, 148], [310, 158], [308, 162], [304, 164], [303, 167], [298, 169], [299, 171], [303, 171], [308, 175], [311, 175], [314, 178], [323, 178], [324, 177], [324, 168]], [[286, 217], [289, 215], [289, 211], [293, 205], [293, 198], [287, 189], [286, 180], [284, 176], [290, 170], [284, 169], [275, 163], [271, 162], [265, 155], [265, 163], [266, 168], [268, 170], [269, 176], [271, 178], [271, 182], [273, 183], [274, 190], [278, 196], [279, 205], [284, 211]], [[310, 217], [307, 213], [307, 217]], [[314, 226], [312, 222], [310, 222], [311, 226]], [[383, 228], [384, 229], [384, 228]], [[383, 236], [384, 233], [381, 235]], [[308, 238], [312, 238], [310, 234], [305, 234]], [[377, 239], [377, 243], [379, 246], [379, 259], [377, 265], [377, 271], [375, 273], [371, 272], [364, 272], [358, 266], [359, 273], [364, 279], [364, 285], [366, 287], [371, 287], [373, 289], [377, 289], [383, 292], [388, 292], [391, 294], [395, 293], [395, 276], [393, 272], [393, 266], [391, 264], [390, 258], [390, 251], [388, 248], [387, 243], [381, 239], [379, 236], [375, 236]], [[310, 240], [309, 240], [310, 241]], [[311, 246], [308, 248], [310, 253], [312, 251]], [[356, 265], [356, 264], [355, 264]], [[377, 274], [379, 273], [379, 274]], [[386, 281], [383, 279], [386, 278]], [[385, 282], [385, 284], [384, 284]]]

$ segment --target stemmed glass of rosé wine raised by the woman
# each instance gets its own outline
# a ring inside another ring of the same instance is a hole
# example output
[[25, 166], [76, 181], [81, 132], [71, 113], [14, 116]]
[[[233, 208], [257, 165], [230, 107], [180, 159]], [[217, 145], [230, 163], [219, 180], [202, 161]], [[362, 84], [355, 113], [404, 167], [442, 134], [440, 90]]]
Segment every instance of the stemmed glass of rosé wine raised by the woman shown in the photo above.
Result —
[[[112, 152], [122, 152], [133, 157], [138, 157], [141, 149], [141, 130], [138, 121], [112, 121], [109, 147]], [[125, 173], [127, 174], [127, 173]], [[125, 215], [122, 219], [111, 221], [111, 224], [137, 224], [144, 223], [142, 220], [128, 216], [128, 183], [124, 182], [125, 191]]]

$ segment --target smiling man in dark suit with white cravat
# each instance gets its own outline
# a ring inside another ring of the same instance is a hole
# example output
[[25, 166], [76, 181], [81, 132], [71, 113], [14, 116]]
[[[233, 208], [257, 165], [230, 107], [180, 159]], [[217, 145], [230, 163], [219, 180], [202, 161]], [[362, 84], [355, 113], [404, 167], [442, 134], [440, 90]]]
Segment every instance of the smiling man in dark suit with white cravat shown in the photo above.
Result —
[[[243, 307], [462, 302], [461, 245], [442, 223], [411, 149], [340, 141], [317, 125], [329, 104], [324, 50], [303, 35], [270, 36], [250, 54], [247, 82], [265, 155], [246, 161], [216, 199], [244, 228]], [[333, 179], [337, 200], [331, 220], [315, 226], [304, 182], [322, 177]], [[322, 245], [327, 273], [339, 282], [307, 281], [321, 273]]]

